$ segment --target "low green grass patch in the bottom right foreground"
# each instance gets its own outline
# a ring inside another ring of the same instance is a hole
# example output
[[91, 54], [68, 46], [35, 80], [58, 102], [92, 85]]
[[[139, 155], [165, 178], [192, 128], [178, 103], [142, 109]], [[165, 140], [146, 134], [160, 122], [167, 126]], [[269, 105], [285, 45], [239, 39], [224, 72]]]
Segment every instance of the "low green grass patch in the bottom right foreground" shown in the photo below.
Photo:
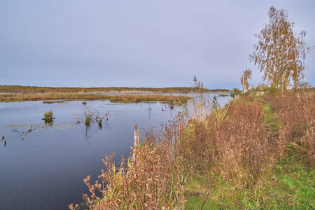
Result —
[[207, 186], [204, 176], [198, 176], [189, 181], [186, 201], [186, 209], [314, 209], [315, 170], [283, 162], [274, 175], [251, 188], [235, 186], [219, 175]]

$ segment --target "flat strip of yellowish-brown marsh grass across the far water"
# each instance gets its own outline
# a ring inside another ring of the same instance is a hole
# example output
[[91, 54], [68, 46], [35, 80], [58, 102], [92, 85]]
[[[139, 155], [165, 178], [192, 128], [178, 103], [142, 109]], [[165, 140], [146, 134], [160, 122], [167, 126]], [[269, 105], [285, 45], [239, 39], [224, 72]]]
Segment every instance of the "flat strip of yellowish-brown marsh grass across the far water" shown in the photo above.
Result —
[[171, 104], [184, 104], [190, 97], [170, 96], [164, 94], [120, 94], [120, 95], [104, 95], [104, 94], [80, 94], [80, 93], [2, 93], [0, 94], [0, 102], [25, 102], [25, 101], [47, 101], [50, 100], [102, 100], [109, 99], [111, 102], [169, 102]]

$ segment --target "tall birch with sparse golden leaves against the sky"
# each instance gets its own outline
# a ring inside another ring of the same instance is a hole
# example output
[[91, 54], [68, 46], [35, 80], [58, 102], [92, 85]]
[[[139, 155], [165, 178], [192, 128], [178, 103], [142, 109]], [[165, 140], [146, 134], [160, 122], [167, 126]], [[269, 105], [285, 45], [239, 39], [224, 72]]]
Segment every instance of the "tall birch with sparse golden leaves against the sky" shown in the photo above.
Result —
[[269, 23], [260, 34], [255, 34], [258, 42], [249, 60], [264, 72], [262, 80], [286, 90], [291, 80], [296, 85], [299, 78], [304, 78], [304, 59], [311, 47], [305, 41], [306, 31], [293, 31], [294, 22], [288, 20], [288, 11], [272, 6], [268, 15]]

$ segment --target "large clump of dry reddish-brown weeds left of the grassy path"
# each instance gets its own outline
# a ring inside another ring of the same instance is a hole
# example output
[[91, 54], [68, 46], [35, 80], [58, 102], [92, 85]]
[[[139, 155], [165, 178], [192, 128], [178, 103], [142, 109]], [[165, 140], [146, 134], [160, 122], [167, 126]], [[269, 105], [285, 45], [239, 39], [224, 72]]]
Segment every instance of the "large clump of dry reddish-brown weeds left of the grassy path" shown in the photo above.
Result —
[[248, 186], [264, 179], [275, 163], [262, 106], [239, 100], [224, 109], [227, 114], [221, 118], [214, 109], [206, 122], [190, 120], [177, 151], [192, 174], [216, 172]]

